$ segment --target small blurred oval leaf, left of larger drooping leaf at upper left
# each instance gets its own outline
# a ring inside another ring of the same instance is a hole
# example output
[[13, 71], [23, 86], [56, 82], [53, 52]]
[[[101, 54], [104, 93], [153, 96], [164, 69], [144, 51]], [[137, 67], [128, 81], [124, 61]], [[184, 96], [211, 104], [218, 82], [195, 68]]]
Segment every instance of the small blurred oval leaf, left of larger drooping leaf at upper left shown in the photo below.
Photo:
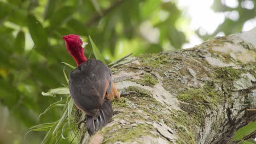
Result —
[[19, 31], [15, 41], [14, 41], [14, 49], [18, 53], [23, 53], [25, 50], [25, 33], [23, 31]]

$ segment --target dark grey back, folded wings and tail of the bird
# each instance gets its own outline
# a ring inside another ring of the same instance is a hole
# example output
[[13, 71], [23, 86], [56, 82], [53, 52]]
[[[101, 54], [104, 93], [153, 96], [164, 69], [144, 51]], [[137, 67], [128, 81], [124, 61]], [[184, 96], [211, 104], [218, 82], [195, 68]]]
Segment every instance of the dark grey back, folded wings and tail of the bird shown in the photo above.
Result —
[[106, 64], [89, 59], [69, 74], [69, 92], [74, 104], [87, 115], [86, 125], [94, 134], [113, 116], [106, 94], [111, 91], [111, 72]]

